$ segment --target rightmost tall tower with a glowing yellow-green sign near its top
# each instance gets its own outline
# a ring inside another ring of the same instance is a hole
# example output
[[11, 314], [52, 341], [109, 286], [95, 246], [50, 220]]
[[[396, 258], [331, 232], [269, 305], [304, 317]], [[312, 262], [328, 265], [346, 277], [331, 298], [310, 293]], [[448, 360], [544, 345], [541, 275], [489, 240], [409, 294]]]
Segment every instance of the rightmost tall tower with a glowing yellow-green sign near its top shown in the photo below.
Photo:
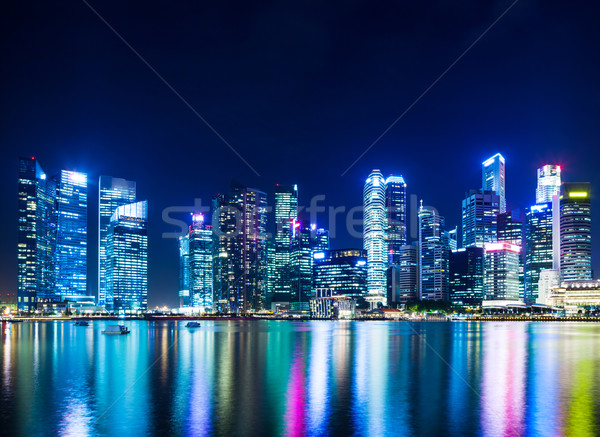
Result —
[[587, 182], [565, 182], [562, 187], [560, 272], [563, 281], [592, 279], [592, 216]]

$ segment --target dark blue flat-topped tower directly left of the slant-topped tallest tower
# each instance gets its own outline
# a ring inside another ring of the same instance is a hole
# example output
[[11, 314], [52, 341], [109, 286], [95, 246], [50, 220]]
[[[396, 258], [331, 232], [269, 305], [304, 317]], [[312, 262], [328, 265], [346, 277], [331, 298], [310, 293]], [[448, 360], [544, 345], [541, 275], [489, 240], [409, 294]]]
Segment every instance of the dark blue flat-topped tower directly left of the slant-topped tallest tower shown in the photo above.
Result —
[[462, 247], [496, 241], [500, 200], [493, 191], [469, 191], [462, 201]]

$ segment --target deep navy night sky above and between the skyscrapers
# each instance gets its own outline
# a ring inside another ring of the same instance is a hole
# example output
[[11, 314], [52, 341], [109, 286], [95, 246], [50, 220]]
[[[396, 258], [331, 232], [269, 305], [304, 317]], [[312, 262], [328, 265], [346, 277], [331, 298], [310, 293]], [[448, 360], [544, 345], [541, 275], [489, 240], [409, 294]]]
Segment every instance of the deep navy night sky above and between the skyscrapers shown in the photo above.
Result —
[[[17, 163], [87, 172], [96, 291], [97, 180], [137, 181], [150, 208], [149, 305], [175, 305], [169, 206], [230, 180], [297, 183], [300, 203], [362, 203], [373, 168], [460, 227], [481, 161], [501, 152], [508, 208], [536, 168], [600, 187], [600, 6], [521, 0], [350, 171], [341, 174], [512, 1], [90, 4], [256, 169], [247, 167], [81, 1], [2, 4], [0, 287], [16, 289]], [[272, 203], [272, 200], [270, 200]], [[595, 271], [600, 218], [594, 199]], [[333, 248], [362, 247], [337, 223]], [[325, 223], [320, 226], [328, 227]]]

